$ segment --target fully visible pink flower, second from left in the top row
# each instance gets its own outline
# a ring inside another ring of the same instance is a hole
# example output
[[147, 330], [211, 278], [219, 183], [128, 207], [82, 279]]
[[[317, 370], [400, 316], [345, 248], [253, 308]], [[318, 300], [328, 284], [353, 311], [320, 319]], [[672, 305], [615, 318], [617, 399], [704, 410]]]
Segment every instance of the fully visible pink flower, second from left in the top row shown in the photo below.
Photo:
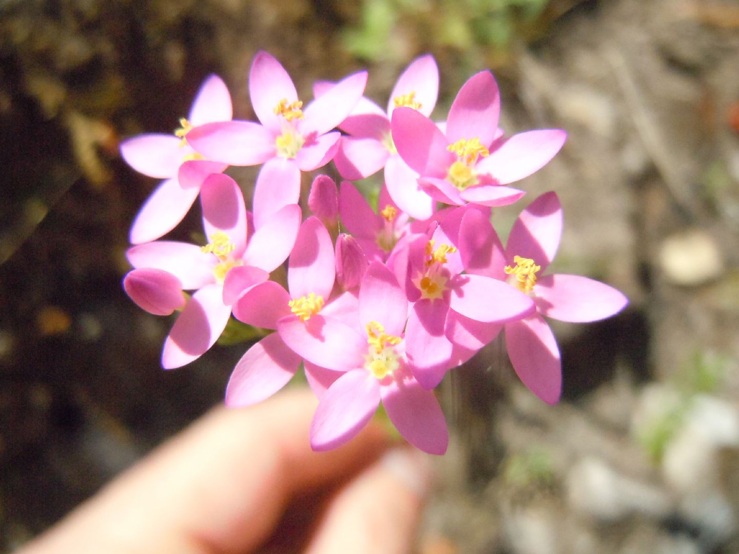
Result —
[[343, 121], [364, 93], [367, 72], [344, 78], [305, 109], [290, 75], [267, 52], [258, 52], [249, 73], [249, 94], [260, 123], [211, 123], [188, 134], [200, 154], [229, 165], [265, 165], [253, 197], [257, 214], [267, 217], [300, 196], [300, 172], [330, 162], [340, 134], [329, 132]]

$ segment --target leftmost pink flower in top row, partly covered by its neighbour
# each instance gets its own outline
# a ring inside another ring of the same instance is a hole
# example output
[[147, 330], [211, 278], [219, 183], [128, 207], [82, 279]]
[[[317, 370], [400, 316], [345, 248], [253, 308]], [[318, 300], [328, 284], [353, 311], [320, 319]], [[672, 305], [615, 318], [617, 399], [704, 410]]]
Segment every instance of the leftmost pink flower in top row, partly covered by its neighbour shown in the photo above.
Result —
[[134, 219], [130, 233], [133, 244], [153, 241], [174, 229], [195, 202], [205, 177], [228, 167], [204, 160], [185, 137], [196, 126], [228, 121], [231, 115], [231, 95], [221, 78], [211, 75], [200, 86], [190, 114], [180, 120], [175, 134], [142, 134], [121, 143], [120, 154], [132, 168], [149, 177], [166, 179]]

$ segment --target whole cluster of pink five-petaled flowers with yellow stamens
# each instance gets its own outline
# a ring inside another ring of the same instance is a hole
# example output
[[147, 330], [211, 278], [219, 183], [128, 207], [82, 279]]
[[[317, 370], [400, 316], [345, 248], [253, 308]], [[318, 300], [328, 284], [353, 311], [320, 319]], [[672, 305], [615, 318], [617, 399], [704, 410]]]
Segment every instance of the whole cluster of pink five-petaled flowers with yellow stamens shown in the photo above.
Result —
[[[148, 312], [180, 312], [164, 343], [166, 369], [204, 354], [232, 315], [264, 330], [236, 364], [225, 401], [264, 400], [302, 366], [319, 397], [310, 430], [319, 451], [350, 440], [382, 403], [406, 440], [443, 454], [433, 389], [502, 330], [522, 382], [559, 400], [559, 349], [544, 317], [595, 321], [627, 299], [589, 278], [545, 274], [562, 232], [554, 192], [522, 211], [505, 247], [491, 209], [524, 195], [508, 185], [548, 163], [565, 132], [506, 137], [488, 71], [462, 86], [446, 121], [431, 120], [438, 80], [425, 55], [386, 109], [364, 98], [367, 72], [318, 82], [304, 103], [282, 65], [259, 52], [249, 75], [259, 122], [232, 119], [228, 89], [213, 75], [174, 134], [121, 145], [134, 169], [164, 179], [132, 226], [134, 270], [123, 285]], [[302, 173], [332, 160], [347, 180], [337, 187], [319, 175], [301, 202]], [[251, 211], [224, 174], [230, 165], [261, 165]], [[350, 181], [380, 170], [375, 210]], [[160, 239], [198, 196], [207, 244]]]

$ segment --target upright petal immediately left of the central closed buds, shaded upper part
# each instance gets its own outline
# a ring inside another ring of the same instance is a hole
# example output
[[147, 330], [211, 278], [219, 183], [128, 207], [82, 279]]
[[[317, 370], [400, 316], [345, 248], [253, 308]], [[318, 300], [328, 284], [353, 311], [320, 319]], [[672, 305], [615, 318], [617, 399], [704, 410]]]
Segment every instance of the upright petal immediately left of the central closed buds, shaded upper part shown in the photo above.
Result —
[[331, 237], [323, 223], [311, 216], [298, 231], [290, 253], [287, 285], [293, 298], [316, 293], [327, 300], [336, 276], [336, 259]]

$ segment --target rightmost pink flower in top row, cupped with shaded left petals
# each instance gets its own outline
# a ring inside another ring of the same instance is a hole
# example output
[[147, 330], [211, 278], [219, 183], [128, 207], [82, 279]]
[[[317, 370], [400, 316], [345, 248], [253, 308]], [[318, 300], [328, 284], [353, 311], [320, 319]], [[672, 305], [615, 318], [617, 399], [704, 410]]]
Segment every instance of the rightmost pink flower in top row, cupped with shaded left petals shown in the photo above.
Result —
[[445, 131], [414, 109], [392, 114], [398, 154], [420, 174], [418, 183], [439, 202], [501, 206], [522, 191], [503, 185], [534, 173], [565, 143], [565, 131], [546, 129], [499, 137], [500, 95], [493, 75], [477, 73], [457, 94]]

